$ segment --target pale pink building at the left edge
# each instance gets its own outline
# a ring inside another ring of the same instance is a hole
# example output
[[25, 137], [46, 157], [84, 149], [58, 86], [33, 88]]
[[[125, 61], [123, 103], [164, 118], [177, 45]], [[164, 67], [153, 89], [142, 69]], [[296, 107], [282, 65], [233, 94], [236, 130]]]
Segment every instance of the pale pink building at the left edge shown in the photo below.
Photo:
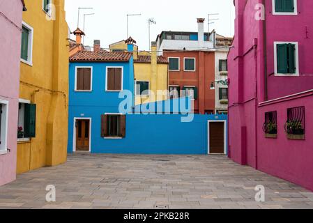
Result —
[[0, 1], [0, 185], [15, 180], [24, 0]]

